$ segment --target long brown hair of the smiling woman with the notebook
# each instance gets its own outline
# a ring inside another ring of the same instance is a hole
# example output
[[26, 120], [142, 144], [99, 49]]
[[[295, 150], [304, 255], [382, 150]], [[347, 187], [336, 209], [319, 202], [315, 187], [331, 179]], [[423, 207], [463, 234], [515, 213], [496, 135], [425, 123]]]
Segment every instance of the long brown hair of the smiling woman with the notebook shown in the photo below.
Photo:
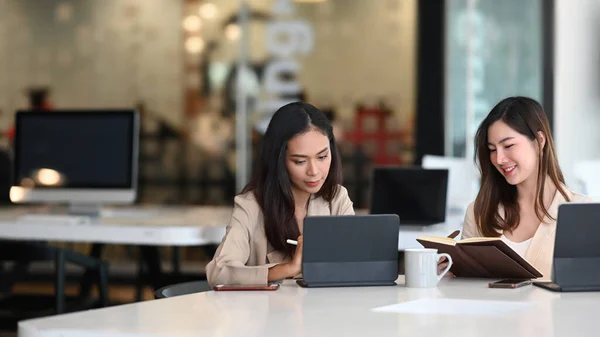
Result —
[[[517, 188], [506, 181], [490, 160], [488, 129], [499, 120], [531, 141], [538, 139], [539, 131], [546, 136], [546, 143], [539, 151], [535, 192], [535, 214], [540, 222], [543, 221], [544, 216], [552, 219], [544, 205], [544, 186], [547, 176], [565, 199], [569, 200], [563, 188], [565, 178], [558, 165], [550, 124], [544, 109], [531, 98], [506, 98], [490, 111], [479, 125], [475, 135], [475, 156], [481, 172], [481, 188], [475, 199], [474, 211], [477, 227], [483, 236], [499, 236], [498, 230], [513, 231], [520, 221]], [[498, 214], [500, 205], [504, 206], [504, 219]]]

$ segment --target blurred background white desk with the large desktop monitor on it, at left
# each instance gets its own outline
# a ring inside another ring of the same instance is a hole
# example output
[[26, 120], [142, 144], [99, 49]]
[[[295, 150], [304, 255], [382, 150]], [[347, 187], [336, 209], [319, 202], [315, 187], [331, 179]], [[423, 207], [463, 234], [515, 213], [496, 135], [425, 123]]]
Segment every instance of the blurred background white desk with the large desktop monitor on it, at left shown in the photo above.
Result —
[[[0, 212], [1, 256], [17, 262], [13, 274], [19, 265], [54, 261], [56, 313], [69, 311], [65, 262], [87, 261], [80, 285], [80, 296], [86, 297], [90, 264], [104, 265], [103, 244], [141, 246], [140, 264], [148, 275], [144, 283], [156, 289], [168, 282], [163, 280], [157, 246], [206, 246], [223, 236], [230, 208], [132, 205], [139, 180], [137, 111], [19, 111], [15, 129], [10, 198], [20, 206]], [[88, 256], [40, 243], [49, 241], [94, 246]], [[10, 275], [11, 269], [7, 272]], [[107, 282], [107, 275], [98, 281], [102, 305], [108, 303]]]

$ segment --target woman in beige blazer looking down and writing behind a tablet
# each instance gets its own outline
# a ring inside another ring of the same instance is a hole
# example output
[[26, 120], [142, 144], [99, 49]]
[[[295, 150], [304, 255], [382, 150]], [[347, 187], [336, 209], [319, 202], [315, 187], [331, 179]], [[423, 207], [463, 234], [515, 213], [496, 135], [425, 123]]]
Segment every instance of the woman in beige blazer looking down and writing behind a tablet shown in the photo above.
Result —
[[227, 234], [206, 267], [209, 283], [266, 284], [300, 274], [304, 218], [354, 214], [341, 177], [323, 112], [302, 102], [277, 110], [252, 180], [235, 198]]

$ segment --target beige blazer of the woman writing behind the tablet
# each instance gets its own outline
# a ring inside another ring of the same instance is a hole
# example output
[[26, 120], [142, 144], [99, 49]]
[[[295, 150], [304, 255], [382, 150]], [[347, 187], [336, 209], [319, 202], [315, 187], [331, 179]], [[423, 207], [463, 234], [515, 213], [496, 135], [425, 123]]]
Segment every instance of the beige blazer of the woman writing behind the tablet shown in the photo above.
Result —
[[[238, 195], [227, 232], [214, 258], [206, 266], [208, 283], [266, 284], [272, 266], [289, 262], [285, 254], [273, 250], [267, 241], [263, 216], [252, 192]], [[323, 198], [311, 198], [307, 216], [354, 215], [348, 191], [339, 186], [338, 193], [329, 203]], [[302, 233], [302, 228], [300, 228]], [[295, 238], [292, 238], [295, 239]]]

